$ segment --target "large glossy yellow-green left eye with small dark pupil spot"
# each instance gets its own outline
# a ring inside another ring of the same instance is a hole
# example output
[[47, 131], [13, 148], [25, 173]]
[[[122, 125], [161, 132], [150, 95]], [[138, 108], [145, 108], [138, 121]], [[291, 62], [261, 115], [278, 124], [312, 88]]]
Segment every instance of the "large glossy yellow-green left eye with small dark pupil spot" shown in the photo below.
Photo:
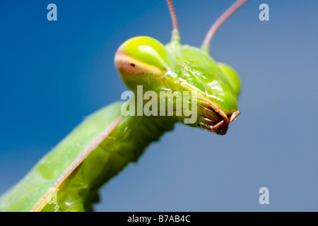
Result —
[[[150, 83], [168, 68], [168, 54], [163, 44], [151, 37], [134, 37], [124, 42], [114, 57], [122, 80], [130, 89]], [[149, 84], [148, 84], [149, 85]]]

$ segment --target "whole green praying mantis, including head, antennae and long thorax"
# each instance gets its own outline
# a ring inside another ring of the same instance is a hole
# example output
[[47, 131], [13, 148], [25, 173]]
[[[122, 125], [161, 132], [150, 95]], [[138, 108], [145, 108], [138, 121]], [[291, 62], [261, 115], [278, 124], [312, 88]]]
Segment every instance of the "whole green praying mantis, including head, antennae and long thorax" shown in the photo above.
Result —
[[[172, 39], [163, 45], [151, 37], [134, 37], [117, 50], [114, 63], [126, 86], [138, 95], [169, 91], [188, 103], [196, 100], [196, 120], [189, 126], [225, 134], [240, 112], [237, 98], [240, 80], [227, 64], [208, 54], [218, 27], [247, 0], [237, 0], [213, 24], [202, 47], [180, 44], [172, 2]], [[169, 98], [169, 97], [168, 97]], [[148, 98], [149, 99], [149, 98]], [[177, 98], [170, 98], [177, 104]], [[159, 105], [165, 99], [158, 98]], [[134, 103], [134, 101], [131, 102]], [[138, 103], [137, 103], [138, 104]], [[147, 102], [141, 102], [144, 107]], [[100, 187], [145, 148], [173, 129], [184, 114], [123, 115], [123, 102], [100, 109], [83, 121], [33, 169], [0, 198], [0, 211], [90, 211], [98, 201]], [[161, 105], [160, 105], [161, 106]]]

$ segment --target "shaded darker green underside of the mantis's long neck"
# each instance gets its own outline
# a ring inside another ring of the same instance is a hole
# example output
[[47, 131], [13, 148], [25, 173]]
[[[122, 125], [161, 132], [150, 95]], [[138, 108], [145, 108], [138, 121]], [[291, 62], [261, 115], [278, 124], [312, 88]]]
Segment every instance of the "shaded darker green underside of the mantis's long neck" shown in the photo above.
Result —
[[[120, 113], [119, 113], [120, 114]], [[120, 117], [120, 116], [119, 116]], [[59, 211], [90, 211], [102, 184], [130, 162], [136, 162], [147, 146], [173, 129], [173, 117], [122, 117], [117, 127], [93, 150], [59, 188]], [[81, 186], [78, 186], [81, 184]], [[73, 191], [69, 196], [70, 189]], [[45, 206], [45, 211], [52, 205]]]

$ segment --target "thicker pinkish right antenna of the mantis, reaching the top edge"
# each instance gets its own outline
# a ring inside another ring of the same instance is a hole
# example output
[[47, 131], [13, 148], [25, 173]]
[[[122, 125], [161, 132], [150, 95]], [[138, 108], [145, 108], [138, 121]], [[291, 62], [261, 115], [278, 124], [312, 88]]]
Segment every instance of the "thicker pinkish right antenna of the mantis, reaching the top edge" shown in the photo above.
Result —
[[230, 16], [232, 16], [237, 9], [239, 9], [243, 4], [245, 4], [248, 0], [237, 0], [235, 1], [230, 8], [228, 8], [219, 18], [216, 20], [215, 23], [211, 26], [210, 30], [208, 30], [208, 33], [206, 34], [206, 37], [204, 38], [204, 42], [202, 44], [202, 49], [206, 50], [208, 52], [208, 49], [210, 47], [210, 42], [212, 40], [212, 37], [220, 28], [220, 26], [227, 20]]

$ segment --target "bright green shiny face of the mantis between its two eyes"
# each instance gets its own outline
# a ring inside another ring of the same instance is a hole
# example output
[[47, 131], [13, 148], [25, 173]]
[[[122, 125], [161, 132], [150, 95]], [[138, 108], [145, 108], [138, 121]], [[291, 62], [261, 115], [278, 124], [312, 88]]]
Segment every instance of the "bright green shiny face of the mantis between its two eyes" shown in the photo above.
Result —
[[[181, 44], [167, 44], [172, 59], [170, 73], [172, 89], [196, 90], [202, 97], [211, 100], [225, 114], [237, 111], [237, 95], [229, 83], [228, 74], [223, 73], [206, 52], [196, 47]], [[179, 85], [182, 84], [182, 85]]]

